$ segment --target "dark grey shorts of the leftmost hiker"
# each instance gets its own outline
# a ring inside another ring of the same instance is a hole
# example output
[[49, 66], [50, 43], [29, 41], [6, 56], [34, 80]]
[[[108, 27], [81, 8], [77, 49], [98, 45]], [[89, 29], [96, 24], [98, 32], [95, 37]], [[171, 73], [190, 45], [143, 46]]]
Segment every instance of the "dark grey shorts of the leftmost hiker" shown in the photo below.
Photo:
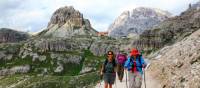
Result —
[[104, 79], [105, 83], [114, 84], [115, 79], [116, 79], [116, 74], [115, 73], [104, 73], [103, 79]]

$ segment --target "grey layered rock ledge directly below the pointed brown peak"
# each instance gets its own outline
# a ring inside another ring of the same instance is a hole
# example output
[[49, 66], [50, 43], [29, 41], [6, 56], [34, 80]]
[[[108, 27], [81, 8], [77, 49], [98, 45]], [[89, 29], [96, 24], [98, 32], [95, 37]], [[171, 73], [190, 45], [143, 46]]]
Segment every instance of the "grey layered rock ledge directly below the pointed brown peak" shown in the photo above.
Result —
[[76, 51], [88, 49], [93, 42], [92, 39], [87, 38], [56, 38], [56, 39], [39, 39], [34, 40], [28, 44], [26, 47], [34, 46], [34, 49], [38, 52], [47, 51]]

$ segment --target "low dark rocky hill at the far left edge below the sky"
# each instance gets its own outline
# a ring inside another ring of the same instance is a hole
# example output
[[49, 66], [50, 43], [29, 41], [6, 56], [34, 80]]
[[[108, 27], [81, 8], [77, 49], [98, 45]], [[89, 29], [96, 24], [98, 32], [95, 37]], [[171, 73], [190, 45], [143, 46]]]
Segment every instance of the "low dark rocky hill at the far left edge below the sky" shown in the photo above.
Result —
[[25, 32], [19, 32], [8, 28], [0, 28], [0, 43], [25, 41], [29, 37], [30, 35]]

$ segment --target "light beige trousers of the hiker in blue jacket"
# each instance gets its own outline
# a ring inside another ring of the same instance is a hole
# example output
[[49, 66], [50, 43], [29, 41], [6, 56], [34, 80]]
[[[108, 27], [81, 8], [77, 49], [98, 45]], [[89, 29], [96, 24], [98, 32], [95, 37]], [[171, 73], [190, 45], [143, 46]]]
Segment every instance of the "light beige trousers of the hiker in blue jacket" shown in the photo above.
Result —
[[140, 73], [133, 73], [128, 71], [129, 88], [141, 88], [142, 86], [142, 75]]

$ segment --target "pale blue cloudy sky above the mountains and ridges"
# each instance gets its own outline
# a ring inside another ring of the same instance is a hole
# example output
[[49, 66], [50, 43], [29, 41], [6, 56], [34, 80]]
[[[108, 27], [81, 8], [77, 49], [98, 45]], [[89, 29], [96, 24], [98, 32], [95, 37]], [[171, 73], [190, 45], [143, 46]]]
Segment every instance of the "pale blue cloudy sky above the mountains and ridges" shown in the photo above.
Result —
[[90, 20], [97, 31], [108, 26], [123, 11], [137, 7], [167, 10], [179, 15], [189, 3], [199, 0], [0, 0], [0, 28], [38, 32], [46, 28], [52, 13], [63, 6], [73, 6]]

